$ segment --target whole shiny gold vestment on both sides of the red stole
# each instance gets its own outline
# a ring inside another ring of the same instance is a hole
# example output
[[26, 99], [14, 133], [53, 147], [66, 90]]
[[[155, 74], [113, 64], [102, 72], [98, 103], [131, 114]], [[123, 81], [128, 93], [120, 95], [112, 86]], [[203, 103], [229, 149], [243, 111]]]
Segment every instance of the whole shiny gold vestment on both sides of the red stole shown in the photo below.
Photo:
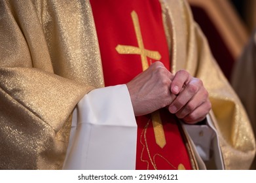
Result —
[[[174, 71], [204, 80], [227, 169], [247, 169], [255, 141], [247, 116], [187, 3], [162, 2]], [[103, 87], [88, 1], [0, 1], [0, 169], [61, 169], [71, 113]]]

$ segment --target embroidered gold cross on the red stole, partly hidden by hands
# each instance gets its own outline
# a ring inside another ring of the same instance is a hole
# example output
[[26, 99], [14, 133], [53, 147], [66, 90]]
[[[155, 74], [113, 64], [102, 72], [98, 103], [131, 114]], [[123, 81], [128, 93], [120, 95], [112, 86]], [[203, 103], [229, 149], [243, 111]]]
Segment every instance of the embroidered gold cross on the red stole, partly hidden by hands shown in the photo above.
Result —
[[[142, 69], [143, 71], [145, 71], [149, 67], [147, 57], [160, 60], [161, 55], [157, 51], [147, 50], [144, 48], [143, 39], [141, 36], [141, 30], [139, 27], [139, 18], [137, 17], [137, 13], [135, 11], [132, 11], [131, 16], [132, 16], [132, 22], [134, 24], [138, 47], [118, 44], [116, 47], [116, 50], [119, 54], [140, 55]], [[164, 129], [162, 127], [162, 121], [161, 121], [158, 110], [153, 112], [151, 116], [152, 116], [152, 122], [154, 127], [156, 144], [158, 144], [158, 146], [160, 146], [161, 148], [164, 148], [164, 146], [166, 145], [166, 139], [164, 137]]]

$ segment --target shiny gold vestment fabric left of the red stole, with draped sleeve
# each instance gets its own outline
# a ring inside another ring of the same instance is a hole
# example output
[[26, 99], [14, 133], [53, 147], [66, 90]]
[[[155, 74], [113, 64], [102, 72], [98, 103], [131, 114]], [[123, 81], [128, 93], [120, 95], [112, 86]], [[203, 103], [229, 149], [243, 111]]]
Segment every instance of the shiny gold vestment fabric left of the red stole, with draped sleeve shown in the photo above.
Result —
[[71, 112], [103, 86], [88, 1], [0, 1], [0, 169], [62, 169]]

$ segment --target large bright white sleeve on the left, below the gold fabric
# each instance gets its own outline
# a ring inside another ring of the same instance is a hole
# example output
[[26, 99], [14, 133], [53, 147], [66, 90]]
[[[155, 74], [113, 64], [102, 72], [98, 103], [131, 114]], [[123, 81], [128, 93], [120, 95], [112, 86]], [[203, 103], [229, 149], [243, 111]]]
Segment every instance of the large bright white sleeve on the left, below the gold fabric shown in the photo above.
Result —
[[136, 141], [126, 85], [92, 90], [73, 112], [63, 169], [135, 169]]

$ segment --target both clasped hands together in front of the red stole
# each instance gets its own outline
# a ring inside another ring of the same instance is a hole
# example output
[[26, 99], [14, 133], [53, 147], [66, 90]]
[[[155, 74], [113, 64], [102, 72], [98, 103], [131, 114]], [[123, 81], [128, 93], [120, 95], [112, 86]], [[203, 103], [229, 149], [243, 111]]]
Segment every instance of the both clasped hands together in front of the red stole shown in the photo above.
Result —
[[204, 120], [211, 109], [202, 80], [192, 77], [185, 70], [173, 75], [160, 61], [153, 63], [126, 86], [135, 116], [166, 107], [177, 118], [195, 124]]

